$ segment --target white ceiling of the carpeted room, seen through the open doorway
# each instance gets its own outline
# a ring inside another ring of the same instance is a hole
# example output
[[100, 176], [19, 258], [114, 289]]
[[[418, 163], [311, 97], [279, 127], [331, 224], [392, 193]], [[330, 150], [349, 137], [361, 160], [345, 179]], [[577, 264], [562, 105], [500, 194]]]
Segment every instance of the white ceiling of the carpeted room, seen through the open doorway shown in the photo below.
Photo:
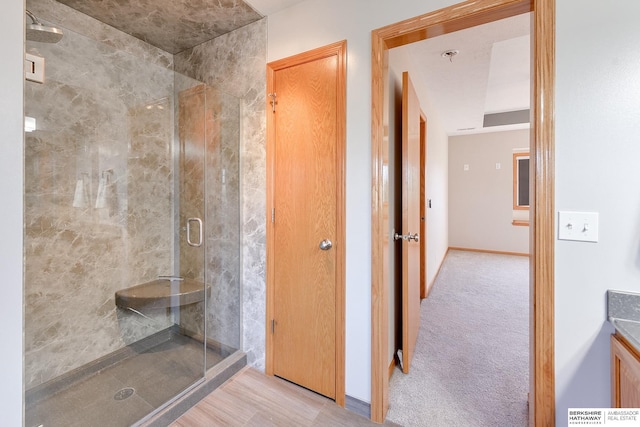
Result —
[[[485, 114], [529, 109], [530, 19], [518, 15], [398, 48], [418, 70], [412, 80], [424, 91], [420, 97], [435, 106], [447, 134], [528, 127], [483, 122]], [[453, 49], [459, 53], [442, 57]]]

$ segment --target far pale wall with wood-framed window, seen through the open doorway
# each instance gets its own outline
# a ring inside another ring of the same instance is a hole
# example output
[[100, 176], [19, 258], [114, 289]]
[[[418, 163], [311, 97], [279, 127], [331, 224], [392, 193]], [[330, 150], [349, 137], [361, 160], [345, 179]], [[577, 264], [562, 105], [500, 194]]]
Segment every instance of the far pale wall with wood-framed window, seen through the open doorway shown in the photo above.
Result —
[[449, 138], [449, 246], [529, 253], [529, 228], [511, 224], [513, 153], [528, 151], [529, 137], [522, 129]]

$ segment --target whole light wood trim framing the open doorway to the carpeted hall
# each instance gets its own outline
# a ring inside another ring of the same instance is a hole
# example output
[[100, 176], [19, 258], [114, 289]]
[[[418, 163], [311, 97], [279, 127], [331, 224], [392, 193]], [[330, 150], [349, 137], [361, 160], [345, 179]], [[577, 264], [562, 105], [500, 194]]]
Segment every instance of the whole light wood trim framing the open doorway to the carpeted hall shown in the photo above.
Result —
[[531, 133], [530, 425], [555, 425], [554, 137], [555, 0], [473, 0], [372, 32], [371, 418], [388, 409], [388, 289], [383, 277], [383, 106], [388, 49], [533, 12]]

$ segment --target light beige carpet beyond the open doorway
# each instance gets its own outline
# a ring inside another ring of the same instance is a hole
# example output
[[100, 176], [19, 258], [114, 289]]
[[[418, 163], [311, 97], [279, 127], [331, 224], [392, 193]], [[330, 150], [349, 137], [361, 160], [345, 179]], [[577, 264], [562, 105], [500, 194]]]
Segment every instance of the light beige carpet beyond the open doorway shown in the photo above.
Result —
[[396, 367], [387, 419], [403, 426], [527, 425], [526, 257], [449, 251], [423, 300], [411, 372]]

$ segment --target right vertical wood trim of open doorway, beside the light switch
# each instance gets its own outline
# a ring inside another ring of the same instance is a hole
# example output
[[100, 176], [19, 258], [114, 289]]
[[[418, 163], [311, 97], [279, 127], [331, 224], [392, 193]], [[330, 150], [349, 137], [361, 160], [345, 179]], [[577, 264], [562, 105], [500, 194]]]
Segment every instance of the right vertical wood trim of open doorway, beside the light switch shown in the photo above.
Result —
[[556, 0], [535, 0], [533, 9], [533, 121], [529, 195], [531, 254], [529, 424], [555, 425], [554, 211], [555, 211], [555, 23]]

